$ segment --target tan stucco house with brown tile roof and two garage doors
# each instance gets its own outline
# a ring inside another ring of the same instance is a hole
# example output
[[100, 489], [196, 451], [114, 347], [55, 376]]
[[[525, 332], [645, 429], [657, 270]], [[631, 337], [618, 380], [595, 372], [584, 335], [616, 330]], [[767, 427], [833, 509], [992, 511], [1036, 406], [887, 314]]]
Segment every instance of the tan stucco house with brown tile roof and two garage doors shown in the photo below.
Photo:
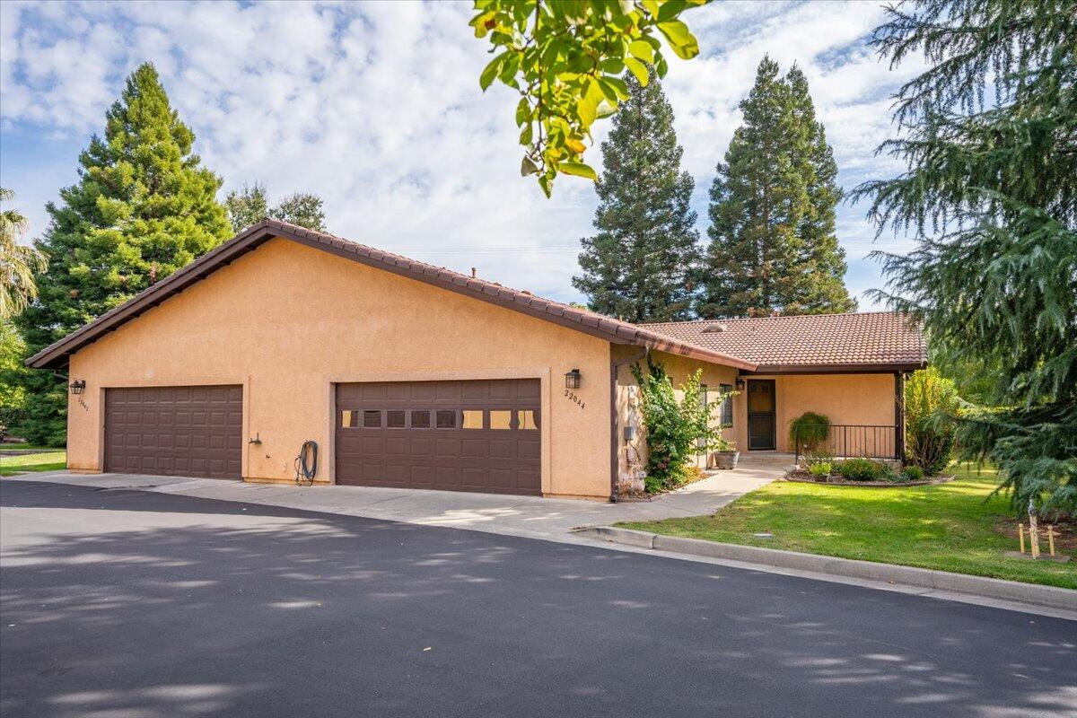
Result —
[[72, 469], [285, 482], [313, 440], [316, 483], [610, 498], [647, 353], [740, 390], [749, 453], [808, 410], [899, 453], [925, 363], [892, 313], [633, 325], [267, 221], [27, 364], [68, 372]]

